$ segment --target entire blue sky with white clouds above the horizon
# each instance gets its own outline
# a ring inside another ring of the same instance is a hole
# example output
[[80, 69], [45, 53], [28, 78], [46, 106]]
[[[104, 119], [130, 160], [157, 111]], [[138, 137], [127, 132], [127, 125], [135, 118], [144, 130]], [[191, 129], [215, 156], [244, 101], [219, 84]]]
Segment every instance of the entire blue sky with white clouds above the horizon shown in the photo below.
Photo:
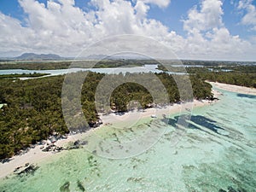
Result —
[[180, 59], [256, 61], [256, 0], [0, 0], [0, 57], [76, 56], [125, 34]]

